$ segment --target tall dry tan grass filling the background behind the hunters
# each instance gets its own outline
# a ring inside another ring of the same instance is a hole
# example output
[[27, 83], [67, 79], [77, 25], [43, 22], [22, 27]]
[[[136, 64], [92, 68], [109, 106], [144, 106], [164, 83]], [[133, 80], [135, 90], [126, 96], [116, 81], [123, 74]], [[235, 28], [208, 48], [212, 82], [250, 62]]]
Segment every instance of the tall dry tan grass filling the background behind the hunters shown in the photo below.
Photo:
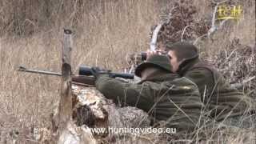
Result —
[[[48, 2], [48, 3], [47, 3]], [[60, 71], [62, 29], [74, 30], [73, 70], [81, 64], [122, 70], [126, 56], [146, 50], [150, 27], [167, 1], [33, 1], [0, 2], [0, 133], [19, 132], [18, 143], [29, 143], [30, 129], [50, 126], [49, 114], [58, 101], [59, 78], [22, 74], [19, 65]], [[202, 5], [203, 4], [203, 5]], [[214, 35], [214, 41], [198, 44], [203, 55], [213, 59], [234, 37], [243, 45], [255, 45], [255, 2], [238, 23], [230, 23]], [[208, 2], [195, 1], [197, 18], [208, 18]], [[229, 33], [227, 33], [227, 31]], [[255, 57], [255, 55], [251, 55]], [[255, 59], [254, 59], [255, 60]], [[0, 143], [4, 138], [0, 137]], [[228, 141], [236, 142], [238, 138]]]

